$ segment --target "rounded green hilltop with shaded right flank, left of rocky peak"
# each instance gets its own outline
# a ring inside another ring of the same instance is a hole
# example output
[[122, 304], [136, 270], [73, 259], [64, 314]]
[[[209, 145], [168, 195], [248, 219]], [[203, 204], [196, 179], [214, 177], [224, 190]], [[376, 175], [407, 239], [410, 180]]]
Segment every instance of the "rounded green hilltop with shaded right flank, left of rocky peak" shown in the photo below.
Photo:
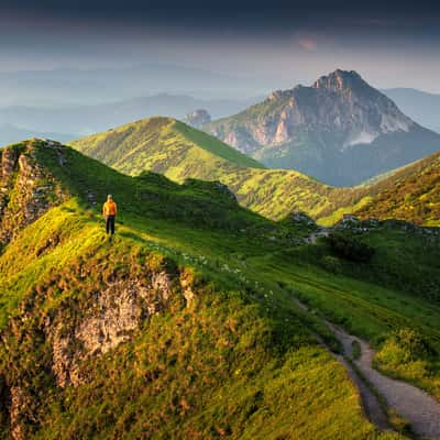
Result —
[[237, 150], [170, 118], [141, 120], [89, 136], [87, 142], [75, 141], [73, 145], [132, 175], [145, 169], [161, 172], [194, 166], [199, 157], [201, 165], [211, 162], [210, 169], [227, 170], [234, 165], [263, 168]]

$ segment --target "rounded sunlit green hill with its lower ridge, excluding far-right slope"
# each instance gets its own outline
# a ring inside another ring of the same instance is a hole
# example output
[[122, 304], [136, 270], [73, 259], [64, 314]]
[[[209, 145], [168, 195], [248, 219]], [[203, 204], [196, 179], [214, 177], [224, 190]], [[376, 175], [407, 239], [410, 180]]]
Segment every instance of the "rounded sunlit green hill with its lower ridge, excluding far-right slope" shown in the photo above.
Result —
[[242, 206], [275, 220], [297, 210], [319, 218], [353, 205], [350, 189], [332, 188], [294, 170], [264, 169], [215, 138], [168, 118], [142, 120], [72, 145], [130, 175], [153, 170], [180, 183], [219, 180]]

